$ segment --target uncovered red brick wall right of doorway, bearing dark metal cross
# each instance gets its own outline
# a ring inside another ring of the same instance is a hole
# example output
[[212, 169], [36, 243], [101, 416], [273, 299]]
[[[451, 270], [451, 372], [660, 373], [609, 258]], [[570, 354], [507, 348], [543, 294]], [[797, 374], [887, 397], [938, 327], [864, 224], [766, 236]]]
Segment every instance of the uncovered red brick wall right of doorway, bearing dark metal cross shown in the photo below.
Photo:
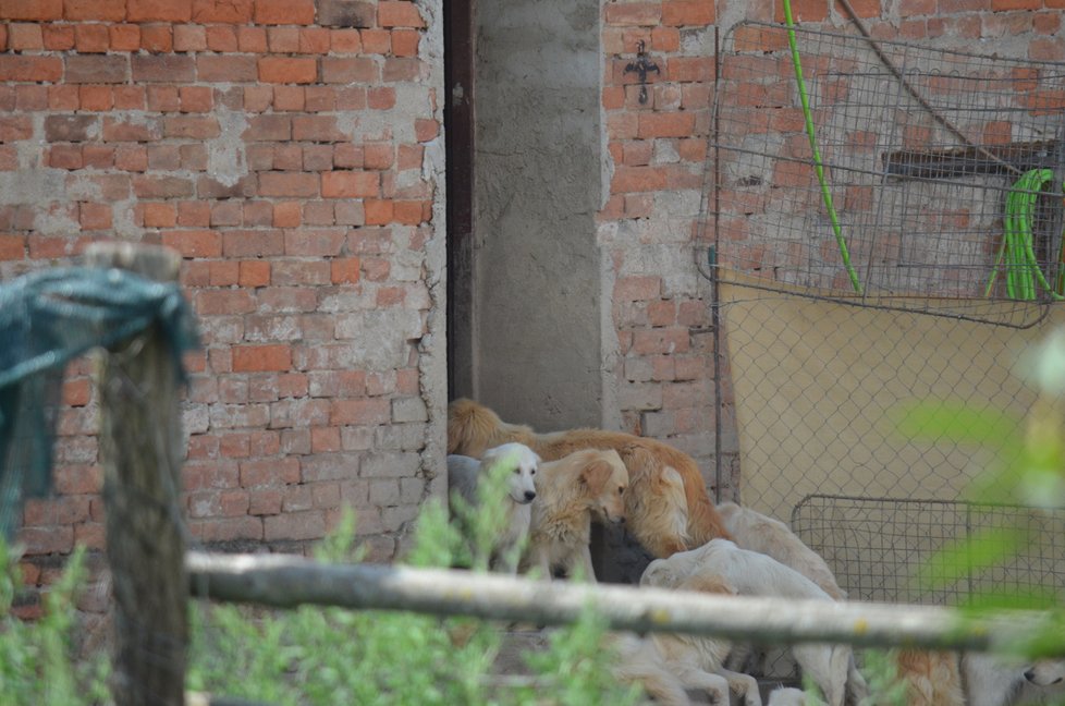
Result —
[[[1065, 60], [1063, 0], [852, 0], [874, 37]], [[611, 161], [599, 241], [614, 264], [613, 319], [620, 340], [619, 401], [632, 430], [693, 453], [714, 482], [717, 428], [710, 284], [693, 258], [699, 236], [714, 76], [714, 25], [782, 22], [780, 0], [648, 0], [603, 7], [602, 107]], [[856, 34], [831, 0], [792, 0], [805, 27]], [[757, 37], [751, 37], [757, 41]], [[640, 42], [659, 69], [626, 72]], [[768, 47], [779, 50], [780, 47]], [[706, 231], [707, 242], [712, 232]], [[696, 256], [702, 254], [697, 249]], [[722, 360], [723, 497], [738, 480], [738, 442], [727, 361]]]

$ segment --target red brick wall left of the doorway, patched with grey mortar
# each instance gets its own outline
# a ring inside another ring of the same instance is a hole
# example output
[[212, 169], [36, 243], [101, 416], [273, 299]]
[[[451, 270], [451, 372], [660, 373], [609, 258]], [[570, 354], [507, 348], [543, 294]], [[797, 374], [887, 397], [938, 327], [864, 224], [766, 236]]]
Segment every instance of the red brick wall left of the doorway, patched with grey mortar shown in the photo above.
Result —
[[[442, 326], [437, 15], [408, 0], [0, 3], [0, 278], [100, 239], [184, 256], [205, 343], [188, 358], [185, 511], [203, 541], [298, 549], [352, 504], [389, 559], [442, 492], [445, 382], [425, 373], [443, 356], [427, 339]], [[102, 546], [87, 373], [70, 370], [57, 495], [25, 508], [30, 558]]]

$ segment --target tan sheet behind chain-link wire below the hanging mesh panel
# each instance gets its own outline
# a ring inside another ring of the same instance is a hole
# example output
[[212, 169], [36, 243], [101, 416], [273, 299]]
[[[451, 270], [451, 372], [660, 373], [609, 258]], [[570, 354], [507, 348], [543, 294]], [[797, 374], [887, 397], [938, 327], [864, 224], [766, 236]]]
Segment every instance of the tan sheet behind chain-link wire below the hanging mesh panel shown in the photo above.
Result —
[[1015, 328], [815, 301], [732, 279], [720, 301], [740, 500], [785, 522], [809, 494], [957, 499], [988, 453], [915, 443], [897, 434], [892, 411], [953, 400], [1023, 419], [1035, 389], [1017, 375], [1018, 358], [1065, 324], [1060, 306], [1037, 326]]

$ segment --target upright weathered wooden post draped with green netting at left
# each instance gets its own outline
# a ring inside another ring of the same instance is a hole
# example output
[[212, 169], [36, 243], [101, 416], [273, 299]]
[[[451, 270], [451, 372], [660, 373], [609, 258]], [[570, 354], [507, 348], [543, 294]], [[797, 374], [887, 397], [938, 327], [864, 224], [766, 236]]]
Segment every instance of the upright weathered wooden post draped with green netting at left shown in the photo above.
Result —
[[[91, 267], [175, 281], [168, 248], [95, 244]], [[180, 506], [175, 363], [156, 326], [112, 345], [96, 376], [107, 555], [114, 593], [115, 704], [184, 704], [188, 579]]]

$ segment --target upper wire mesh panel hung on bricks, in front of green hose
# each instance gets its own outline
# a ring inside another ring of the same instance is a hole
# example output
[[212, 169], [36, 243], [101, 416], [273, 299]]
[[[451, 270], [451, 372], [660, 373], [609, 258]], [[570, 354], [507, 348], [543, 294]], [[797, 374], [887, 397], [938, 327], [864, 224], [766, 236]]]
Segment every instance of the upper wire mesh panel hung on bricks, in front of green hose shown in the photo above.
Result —
[[1060, 297], [1065, 66], [797, 28], [798, 82], [783, 26], [721, 44], [718, 264], [1012, 326], [1041, 312], [1005, 302]]

